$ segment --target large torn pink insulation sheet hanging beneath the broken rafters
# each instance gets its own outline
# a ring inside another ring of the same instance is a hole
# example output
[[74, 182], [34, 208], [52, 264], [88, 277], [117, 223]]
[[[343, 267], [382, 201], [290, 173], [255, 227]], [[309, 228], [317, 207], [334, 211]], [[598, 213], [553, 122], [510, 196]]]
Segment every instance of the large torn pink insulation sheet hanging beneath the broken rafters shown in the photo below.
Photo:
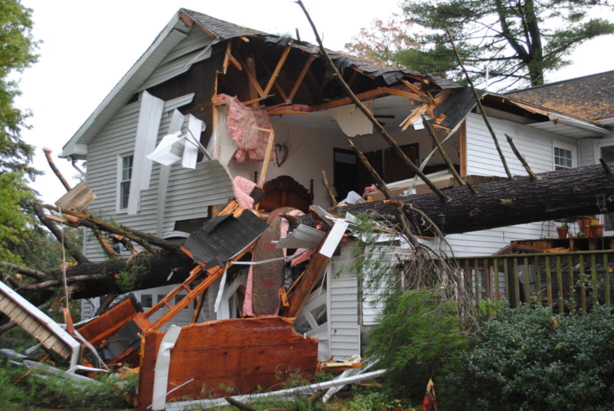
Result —
[[[273, 129], [268, 114], [264, 110], [252, 110], [244, 106], [236, 97], [227, 94], [217, 94], [218, 101], [226, 101], [227, 129], [230, 137], [235, 140], [238, 148], [235, 152], [236, 163], [258, 163], [263, 161], [269, 133], [253, 129], [252, 126]], [[271, 161], [275, 152], [271, 152]]]

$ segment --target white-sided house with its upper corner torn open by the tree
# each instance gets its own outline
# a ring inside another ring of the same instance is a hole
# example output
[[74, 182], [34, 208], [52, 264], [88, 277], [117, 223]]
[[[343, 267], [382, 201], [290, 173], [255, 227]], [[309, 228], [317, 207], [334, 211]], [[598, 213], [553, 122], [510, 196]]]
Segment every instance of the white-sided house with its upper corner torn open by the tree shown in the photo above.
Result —
[[[469, 88], [330, 55], [358, 98], [409, 158], [426, 164], [424, 173], [438, 185], [446, 186], [451, 174], [422, 129], [422, 114], [462, 176], [505, 176]], [[349, 150], [350, 138], [389, 188], [407, 190], [413, 172], [374, 134], [331, 74], [314, 45], [181, 9], [61, 156], [87, 160], [87, 185], [96, 194], [90, 212], [176, 242], [236, 196], [235, 177], [263, 183], [258, 209], [265, 212], [330, 206], [322, 171], [338, 200], [352, 191], [362, 194], [373, 181]], [[481, 98], [495, 132], [513, 137], [534, 172], [593, 164], [598, 160], [594, 142], [612, 135], [611, 123], [525, 102], [521, 94], [482, 92]], [[260, 175], [268, 130], [274, 132], [273, 155], [266, 159], [266, 175]], [[510, 148], [502, 148], [511, 172], [526, 174]], [[428, 188], [418, 182], [416, 190]], [[491, 255], [512, 240], [551, 236], [554, 228], [545, 221], [451, 234], [447, 240], [456, 255]], [[91, 261], [106, 259], [93, 237], [85, 239], [84, 253]], [[359, 299], [357, 275], [344, 270], [351, 259], [350, 246], [342, 244], [295, 323], [298, 332], [319, 337], [321, 358], [359, 353], [361, 332], [376, 320], [368, 296]], [[220, 282], [209, 288], [199, 320], [238, 317], [246, 278], [247, 268], [233, 279], [222, 278], [227, 290], [217, 310]], [[171, 288], [135, 294], [147, 308]], [[90, 303], [84, 302], [84, 315], [89, 311]], [[177, 325], [190, 322], [192, 310], [184, 311], [173, 319]]]

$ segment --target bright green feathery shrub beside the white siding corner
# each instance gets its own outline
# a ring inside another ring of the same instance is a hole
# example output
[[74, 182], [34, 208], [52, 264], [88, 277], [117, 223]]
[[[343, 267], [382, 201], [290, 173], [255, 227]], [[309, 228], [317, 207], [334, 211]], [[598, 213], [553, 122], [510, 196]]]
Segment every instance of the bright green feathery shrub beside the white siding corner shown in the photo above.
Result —
[[368, 356], [379, 358], [384, 386], [395, 398], [421, 401], [429, 378], [452, 371], [468, 339], [456, 305], [438, 291], [407, 290], [389, 298], [370, 334]]

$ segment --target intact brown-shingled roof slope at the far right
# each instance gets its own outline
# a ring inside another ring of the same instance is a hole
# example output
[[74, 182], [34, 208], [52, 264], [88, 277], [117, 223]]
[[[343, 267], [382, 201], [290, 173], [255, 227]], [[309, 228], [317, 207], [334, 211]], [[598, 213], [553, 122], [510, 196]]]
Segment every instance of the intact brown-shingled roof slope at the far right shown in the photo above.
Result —
[[614, 118], [614, 70], [510, 91], [507, 95], [597, 123]]

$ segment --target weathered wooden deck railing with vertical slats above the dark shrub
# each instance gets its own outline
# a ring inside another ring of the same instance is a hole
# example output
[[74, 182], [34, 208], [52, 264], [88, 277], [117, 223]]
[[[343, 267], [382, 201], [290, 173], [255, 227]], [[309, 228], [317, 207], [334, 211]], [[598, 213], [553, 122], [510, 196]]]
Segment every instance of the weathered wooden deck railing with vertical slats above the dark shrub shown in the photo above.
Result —
[[553, 312], [586, 313], [612, 305], [614, 250], [458, 257], [476, 306], [508, 299], [511, 307], [535, 301]]

